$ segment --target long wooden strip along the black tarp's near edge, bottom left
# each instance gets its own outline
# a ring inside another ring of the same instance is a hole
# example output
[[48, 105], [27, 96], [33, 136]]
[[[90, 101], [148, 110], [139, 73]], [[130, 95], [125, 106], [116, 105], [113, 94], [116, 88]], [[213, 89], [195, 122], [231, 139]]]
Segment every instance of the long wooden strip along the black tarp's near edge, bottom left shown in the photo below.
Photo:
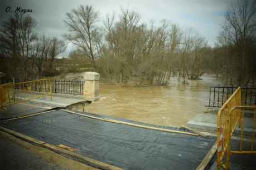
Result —
[[95, 168], [107, 169], [107, 170], [122, 170], [122, 168], [115, 167], [113, 165], [97, 161], [95, 159], [83, 156], [83, 155], [78, 154], [78, 153], [67, 151], [67, 150], [62, 149], [60, 147], [54, 146], [53, 144], [45, 143], [43, 141], [37, 140], [35, 138], [28, 137], [28, 136], [26, 136], [24, 134], [21, 134], [21, 133], [18, 133], [18, 132], [15, 132], [15, 131], [12, 131], [10, 129], [7, 129], [7, 128], [4, 128], [4, 127], [0, 126], [0, 132], [1, 131], [2, 132], [6, 132], [8, 134], [11, 134], [12, 136], [20, 138], [23, 141], [26, 141], [28, 143], [36, 144], [37, 146], [49, 149], [50, 151], [53, 151], [53, 152], [55, 152], [57, 154], [61, 154], [64, 157], [74, 158], [75, 161], [79, 161], [81, 163], [88, 164], [89, 166], [93, 166]]

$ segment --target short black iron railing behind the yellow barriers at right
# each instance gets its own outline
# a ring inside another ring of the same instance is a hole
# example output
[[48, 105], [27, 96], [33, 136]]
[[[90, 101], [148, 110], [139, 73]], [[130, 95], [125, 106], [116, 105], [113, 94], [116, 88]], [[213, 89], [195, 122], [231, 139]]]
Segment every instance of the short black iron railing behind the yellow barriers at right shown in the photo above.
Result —
[[[221, 107], [233, 94], [236, 86], [210, 86], [209, 104], [207, 107]], [[256, 88], [241, 86], [241, 105], [256, 105]]]

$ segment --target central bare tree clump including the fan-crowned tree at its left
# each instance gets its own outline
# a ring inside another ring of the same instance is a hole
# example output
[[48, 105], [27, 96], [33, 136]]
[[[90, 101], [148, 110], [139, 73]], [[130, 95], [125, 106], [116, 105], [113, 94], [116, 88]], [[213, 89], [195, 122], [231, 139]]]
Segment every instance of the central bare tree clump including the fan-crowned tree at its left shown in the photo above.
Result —
[[137, 12], [121, 9], [118, 17], [108, 14], [99, 27], [99, 13], [91, 6], [79, 6], [67, 13], [70, 31], [65, 38], [88, 57], [94, 70], [117, 83], [135, 80], [141, 84], [166, 84], [178, 74], [185, 82], [204, 73], [206, 39], [193, 29], [182, 31], [163, 20], [160, 26], [140, 21]]

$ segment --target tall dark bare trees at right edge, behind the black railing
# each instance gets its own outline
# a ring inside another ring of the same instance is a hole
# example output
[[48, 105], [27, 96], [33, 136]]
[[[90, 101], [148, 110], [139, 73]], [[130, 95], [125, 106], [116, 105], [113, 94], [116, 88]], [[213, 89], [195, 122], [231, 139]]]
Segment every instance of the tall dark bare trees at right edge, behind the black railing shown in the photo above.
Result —
[[255, 84], [256, 1], [232, 1], [214, 50], [215, 73], [225, 83]]

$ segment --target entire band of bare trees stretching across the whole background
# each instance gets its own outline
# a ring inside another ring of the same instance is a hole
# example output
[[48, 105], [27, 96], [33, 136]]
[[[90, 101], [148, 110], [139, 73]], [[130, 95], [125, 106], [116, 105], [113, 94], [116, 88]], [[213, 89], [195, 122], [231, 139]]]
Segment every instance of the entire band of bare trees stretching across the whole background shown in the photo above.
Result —
[[[63, 37], [76, 47], [69, 55], [74, 66], [86, 62], [81, 67], [99, 72], [108, 81], [162, 85], [171, 76], [186, 83], [213, 73], [225, 84], [254, 84], [255, 12], [255, 1], [231, 1], [214, 47], [193, 28], [166, 20], [144, 23], [129, 9], [100, 18], [92, 6], [78, 6], [66, 13], [69, 33]], [[32, 21], [16, 15], [1, 27], [1, 56], [12, 58], [13, 66], [8, 68], [13, 75], [51, 75], [54, 58], [64, 50], [64, 41], [38, 37]]]

